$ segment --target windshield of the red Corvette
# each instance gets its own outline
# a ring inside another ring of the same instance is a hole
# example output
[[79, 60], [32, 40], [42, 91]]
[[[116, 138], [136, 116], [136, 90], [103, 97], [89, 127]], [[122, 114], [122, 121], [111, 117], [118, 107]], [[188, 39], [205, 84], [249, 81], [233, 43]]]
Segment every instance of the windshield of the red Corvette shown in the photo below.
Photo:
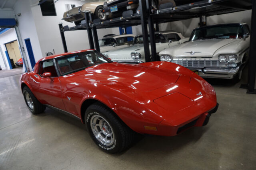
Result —
[[111, 63], [109, 59], [95, 51], [74, 53], [56, 59], [61, 76], [74, 73], [96, 64]]

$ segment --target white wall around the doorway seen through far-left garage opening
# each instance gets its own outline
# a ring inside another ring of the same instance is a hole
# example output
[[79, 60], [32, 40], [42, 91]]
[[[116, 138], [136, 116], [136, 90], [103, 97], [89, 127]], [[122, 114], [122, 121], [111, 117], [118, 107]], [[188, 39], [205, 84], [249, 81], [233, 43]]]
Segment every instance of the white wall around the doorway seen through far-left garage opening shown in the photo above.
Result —
[[[10, 70], [10, 65], [8, 63], [8, 59], [7, 59], [7, 56], [6, 56], [6, 53], [5, 53], [5, 51], [7, 51], [6, 47], [5, 47], [5, 44], [9, 43], [11, 41], [15, 41], [17, 39], [18, 39], [17, 34], [16, 34], [16, 31], [15, 31], [14, 28], [10, 28], [9, 30], [5, 31], [4, 33], [2, 33], [0, 35], [0, 46], [1, 46], [0, 48], [2, 49], [2, 52], [3, 52], [3, 55], [4, 55], [4, 56], [1, 56], [1, 53], [0, 53], [0, 65], [1, 65], [1, 68], [3, 70], [6, 70], [6, 69]], [[6, 62], [7, 68], [4, 65], [3, 59]]]

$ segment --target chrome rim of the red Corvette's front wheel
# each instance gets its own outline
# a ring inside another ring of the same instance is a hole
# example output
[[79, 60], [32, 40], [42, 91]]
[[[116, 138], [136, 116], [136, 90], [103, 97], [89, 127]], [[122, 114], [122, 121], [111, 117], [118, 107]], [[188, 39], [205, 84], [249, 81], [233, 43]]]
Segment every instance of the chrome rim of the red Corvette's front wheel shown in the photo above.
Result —
[[110, 146], [114, 143], [114, 132], [108, 121], [100, 115], [93, 115], [90, 120], [92, 133], [103, 145]]

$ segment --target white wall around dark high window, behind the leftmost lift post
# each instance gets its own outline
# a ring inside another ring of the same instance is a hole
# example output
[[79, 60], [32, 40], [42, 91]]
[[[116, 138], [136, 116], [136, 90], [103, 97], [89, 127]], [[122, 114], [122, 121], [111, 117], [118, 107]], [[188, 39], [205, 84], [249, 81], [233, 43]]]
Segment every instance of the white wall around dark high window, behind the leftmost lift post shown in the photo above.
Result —
[[[40, 6], [31, 6], [36, 31], [41, 47], [42, 57], [46, 56], [47, 52], [64, 53], [58, 23], [63, 23], [63, 26], [74, 26], [74, 23], [61, 20], [63, 13], [66, 11], [66, 4], [75, 4], [76, 6], [84, 4], [84, 1], [78, 0], [59, 0], [55, 3], [57, 16], [42, 16]], [[100, 39], [106, 34], [115, 33], [119, 34], [118, 28], [98, 29], [98, 38]], [[89, 49], [88, 36], [86, 30], [67, 31], [64, 33], [68, 51], [76, 51], [81, 49]]]

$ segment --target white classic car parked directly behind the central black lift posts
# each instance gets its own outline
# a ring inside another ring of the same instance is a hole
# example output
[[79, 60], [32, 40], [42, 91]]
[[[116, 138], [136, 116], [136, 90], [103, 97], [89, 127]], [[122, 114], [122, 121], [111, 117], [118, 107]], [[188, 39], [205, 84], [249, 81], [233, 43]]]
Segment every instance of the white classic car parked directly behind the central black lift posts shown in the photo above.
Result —
[[[168, 41], [169, 39], [169, 41]], [[150, 41], [148, 36], [148, 41]], [[167, 49], [169, 47], [178, 45], [180, 43], [184, 43], [188, 41], [185, 37], [181, 35], [181, 33], [174, 32], [174, 31], [160, 31], [155, 32], [155, 41], [156, 41], [156, 53]], [[149, 46], [150, 54], [151, 54], [151, 47]], [[133, 45], [128, 47], [123, 47], [120, 49], [109, 49], [102, 53], [105, 57], [110, 58], [112, 61], [116, 61], [119, 63], [130, 63], [130, 64], [137, 64], [137, 63], [144, 63], [145, 62], [145, 55], [144, 55], [144, 44], [143, 44], [143, 37], [142, 35], [137, 35], [135, 37]], [[158, 60], [160, 60], [158, 56]]]

